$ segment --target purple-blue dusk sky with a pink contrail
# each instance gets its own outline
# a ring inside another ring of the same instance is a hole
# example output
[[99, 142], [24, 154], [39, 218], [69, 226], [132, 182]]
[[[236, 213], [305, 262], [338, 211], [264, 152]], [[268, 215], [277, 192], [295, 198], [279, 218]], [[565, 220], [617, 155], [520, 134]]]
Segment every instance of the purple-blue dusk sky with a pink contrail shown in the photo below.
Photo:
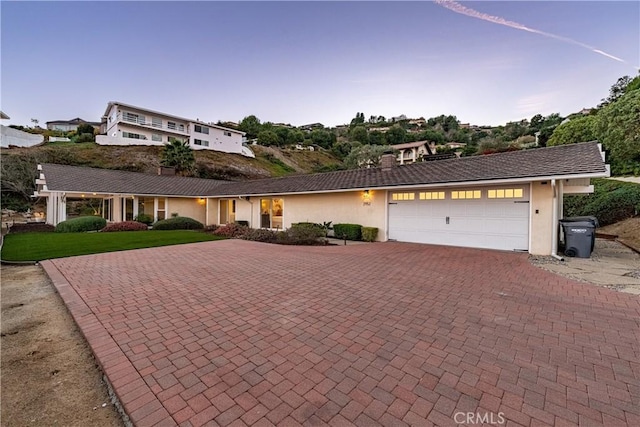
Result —
[[500, 125], [596, 106], [640, 65], [637, 1], [0, 7], [5, 125], [100, 121], [109, 101], [211, 122]]

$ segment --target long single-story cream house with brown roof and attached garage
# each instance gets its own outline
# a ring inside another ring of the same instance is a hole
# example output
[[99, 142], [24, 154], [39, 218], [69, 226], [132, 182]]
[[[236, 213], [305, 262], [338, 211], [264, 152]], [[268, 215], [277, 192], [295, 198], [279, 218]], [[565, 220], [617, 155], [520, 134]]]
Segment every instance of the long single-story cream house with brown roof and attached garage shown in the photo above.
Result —
[[283, 229], [310, 221], [377, 227], [378, 240], [555, 254], [564, 194], [609, 176], [602, 147], [585, 142], [485, 156], [229, 182], [43, 164], [37, 196], [47, 222], [68, 198], [99, 197], [109, 221], [178, 214], [205, 224]]

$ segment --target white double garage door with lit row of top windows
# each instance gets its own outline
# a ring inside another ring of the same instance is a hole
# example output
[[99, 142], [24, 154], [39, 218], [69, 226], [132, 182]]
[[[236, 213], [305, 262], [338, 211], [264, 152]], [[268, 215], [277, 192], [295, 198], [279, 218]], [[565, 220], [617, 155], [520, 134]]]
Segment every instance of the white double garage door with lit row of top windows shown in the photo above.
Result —
[[526, 251], [529, 186], [390, 192], [389, 239]]

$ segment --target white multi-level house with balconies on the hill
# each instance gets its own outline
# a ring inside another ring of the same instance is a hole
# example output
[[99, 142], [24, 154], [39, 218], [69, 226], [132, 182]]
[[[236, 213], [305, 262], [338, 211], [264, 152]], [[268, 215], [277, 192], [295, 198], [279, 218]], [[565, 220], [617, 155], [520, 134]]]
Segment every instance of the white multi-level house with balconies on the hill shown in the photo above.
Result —
[[243, 146], [245, 133], [121, 102], [109, 102], [102, 117], [106, 135], [100, 145], [165, 145], [170, 139], [188, 141], [195, 150], [214, 150], [254, 157]]

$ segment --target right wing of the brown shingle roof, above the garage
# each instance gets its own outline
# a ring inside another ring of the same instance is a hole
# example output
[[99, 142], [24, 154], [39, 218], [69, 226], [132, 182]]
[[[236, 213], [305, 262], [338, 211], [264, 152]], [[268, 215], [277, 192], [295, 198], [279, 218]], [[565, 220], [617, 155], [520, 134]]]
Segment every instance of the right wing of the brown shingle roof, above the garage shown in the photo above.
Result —
[[596, 142], [413, 163], [390, 170], [356, 169], [236, 182], [216, 187], [207, 195], [321, 192], [581, 174], [606, 174]]

